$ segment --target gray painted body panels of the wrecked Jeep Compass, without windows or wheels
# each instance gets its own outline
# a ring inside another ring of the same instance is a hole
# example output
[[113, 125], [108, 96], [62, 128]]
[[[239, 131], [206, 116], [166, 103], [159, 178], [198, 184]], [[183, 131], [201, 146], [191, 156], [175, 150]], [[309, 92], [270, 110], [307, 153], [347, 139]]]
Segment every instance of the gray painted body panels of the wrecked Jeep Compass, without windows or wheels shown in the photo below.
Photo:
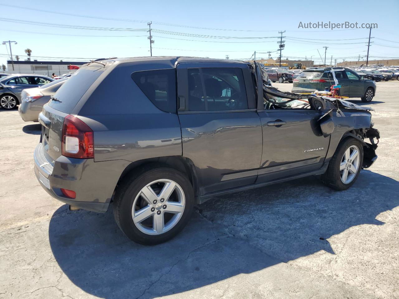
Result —
[[[180, 106], [178, 113], [163, 112], [130, 78], [134, 71], [171, 68], [178, 69], [180, 78], [179, 65], [184, 70], [184, 63], [249, 71], [241, 61], [142, 57], [101, 63], [105, 67], [96, 63], [83, 66], [101, 74], [71, 111], [61, 112], [58, 103], [51, 102], [39, 116], [43, 134], [35, 151], [36, 176], [40, 179], [40, 172], [49, 179], [51, 190], [43, 188], [53, 197], [83, 209], [105, 212], [119, 179], [147, 162], [186, 171], [198, 203], [219, 194], [321, 174], [345, 134], [370, 127], [369, 112], [342, 108], [332, 112], [335, 130], [325, 138], [317, 124], [320, 114], [314, 110], [257, 110], [263, 107], [263, 98], [258, 96], [255, 102], [252, 79], [245, 81], [248, 110], [189, 112]], [[119, 88], [109, 88], [113, 85]], [[262, 86], [256, 86], [260, 94]], [[62, 88], [68, 88], [68, 82]], [[185, 89], [185, 81], [178, 79], [181, 102]], [[110, 99], [114, 101], [112, 109], [107, 105]], [[94, 159], [61, 155], [63, 119], [68, 114], [76, 115], [93, 130]], [[286, 124], [268, 125], [276, 120]], [[310, 148], [323, 149], [304, 152]], [[61, 187], [76, 191], [76, 199], [63, 197]]]

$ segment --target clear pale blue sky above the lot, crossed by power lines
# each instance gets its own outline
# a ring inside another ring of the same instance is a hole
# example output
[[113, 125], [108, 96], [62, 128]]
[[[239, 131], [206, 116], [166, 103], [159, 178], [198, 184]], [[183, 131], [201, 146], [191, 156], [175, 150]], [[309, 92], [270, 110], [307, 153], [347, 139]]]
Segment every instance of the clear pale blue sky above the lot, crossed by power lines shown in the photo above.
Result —
[[[15, 3], [15, 4], [14, 4]], [[53, 1], [18, 2], [0, 1], [1, 38], [2, 41], [17, 41], [12, 45], [13, 55], [22, 55], [24, 49], [32, 49], [32, 59], [50, 60], [42, 57], [60, 57], [51, 60], [86, 61], [87, 58], [107, 58], [149, 56], [149, 41], [146, 31], [131, 31], [132, 29], [147, 29], [147, 22], [152, 21], [156, 30], [173, 31], [153, 32], [153, 55], [157, 56], [197, 56], [211, 58], [249, 59], [254, 51], [276, 51], [278, 31], [285, 30], [285, 49], [282, 58], [312, 57], [316, 63], [321, 63], [318, 51], [324, 59], [324, 46], [327, 49], [327, 61], [331, 56], [342, 62], [345, 57], [366, 55], [369, 30], [329, 30], [301, 29], [299, 22], [358, 22], [377, 23], [378, 28], [371, 31], [373, 43], [370, 47], [371, 56], [399, 57], [399, 33], [397, 20], [399, 13], [398, 0], [376, 1], [284, 1], [281, 6], [278, 1]], [[381, 3], [381, 4], [379, 4]], [[83, 18], [64, 14], [54, 14], [27, 10], [34, 8], [65, 14], [136, 20], [120, 21], [97, 18]], [[332, 16], [330, 16], [332, 15]], [[4, 20], [8, 19], [8, 21]], [[72, 26], [102, 27], [107, 30], [82, 30], [76, 28], [57, 28], [24, 24], [19, 21], [9, 22], [9, 19], [27, 22], [41, 22]], [[168, 26], [166, 24], [179, 26]], [[190, 26], [190, 27], [185, 27]], [[214, 28], [198, 29], [201, 28]], [[128, 28], [128, 31], [118, 31], [109, 28]], [[218, 29], [218, 30], [216, 30]], [[255, 30], [255, 31], [254, 31]], [[22, 32], [23, 31], [23, 32]], [[181, 35], [190, 33], [198, 35], [213, 35], [217, 37], [252, 37], [252, 39], [222, 39], [200, 38]], [[95, 36], [79, 36], [95, 35]], [[100, 37], [100, 36], [113, 37]], [[126, 37], [126, 35], [128, 37]], [[139, 35], [139, 36], [132, 36]], [[124, 36], [124, 37], [115, 37]], [[255, 37], [255, 38], [253, 38]], [[272, 37], [272, 38], [259, 38]], [[362, 39], [364, 38], [364, 39]], [[189, 39], [189, 40], [184, 40]], [[324, 39], [324, 40], [323, 40]], [[337, 39], [328, 40], [328, 39]], [[347, 39], [338, 41], [338, 39]], [[7, 49], [0, 45], [0, 64], [6, 64]], [[318, 51], [317, 51], [318, 50]], [[277, 53], [271, 54], [273, 58]], [[34, 57], [37, 56], [37, 57]], [[71, 57], [68, 59], [68, 57]], [[266, 53], [257, 53], [257, 58], [267, 58]], [[82, 58], [82, 59], [76, 59]], [[374, 58], [370, 58], [374, 59]], [[357, 60], [357, 59], [346, 59]]]

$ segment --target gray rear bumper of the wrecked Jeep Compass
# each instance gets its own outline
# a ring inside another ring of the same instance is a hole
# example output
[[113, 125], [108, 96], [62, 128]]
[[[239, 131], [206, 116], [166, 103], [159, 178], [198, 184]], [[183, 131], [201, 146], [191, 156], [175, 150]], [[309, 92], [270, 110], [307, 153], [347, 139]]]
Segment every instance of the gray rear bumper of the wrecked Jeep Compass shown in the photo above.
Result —
[[[94, 212], [107, 211], [120, 175], [130, 163], [124, 160], [94, 162], [94, 159], [65, 156], [49, 161], [41, 143], [35, 149], [34, 161], [36, 178], [49, 195], [67, 205]], [[48, 179], [49, 188], [40, 174]], [[75, 191], [76, 198], [65, 197], [61, 188]]]

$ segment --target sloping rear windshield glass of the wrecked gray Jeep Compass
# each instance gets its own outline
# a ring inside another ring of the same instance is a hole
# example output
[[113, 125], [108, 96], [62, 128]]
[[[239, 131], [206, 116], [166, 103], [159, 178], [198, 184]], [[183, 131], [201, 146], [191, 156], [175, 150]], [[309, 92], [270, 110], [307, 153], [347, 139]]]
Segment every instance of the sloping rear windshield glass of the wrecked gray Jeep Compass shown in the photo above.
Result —
[[65, 113], [71, 113], [83, 94], [104, 71], [105, 69], [79, 69], [57, 90], [54, 98], [57, 98], [58, 101], [50, 101], [49, 106]]

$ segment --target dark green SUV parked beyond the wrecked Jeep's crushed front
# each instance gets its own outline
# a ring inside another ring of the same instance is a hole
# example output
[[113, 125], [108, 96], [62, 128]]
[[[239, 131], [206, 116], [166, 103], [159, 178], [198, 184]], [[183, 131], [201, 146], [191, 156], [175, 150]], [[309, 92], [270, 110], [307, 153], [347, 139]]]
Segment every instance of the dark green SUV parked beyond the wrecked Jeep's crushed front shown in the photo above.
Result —
[[[333, 68], [338, 85], [341, 85], [340, 94], [349, 98], [361, 98], [362, 102], [371, 102], [375, 95], [375, 82], [364, 79], [351, 69]], [[311, 93], [314, 90], [328, 90], [335, 85], [331, 68], [304, 70], [294, 79], [292, 92]]]

